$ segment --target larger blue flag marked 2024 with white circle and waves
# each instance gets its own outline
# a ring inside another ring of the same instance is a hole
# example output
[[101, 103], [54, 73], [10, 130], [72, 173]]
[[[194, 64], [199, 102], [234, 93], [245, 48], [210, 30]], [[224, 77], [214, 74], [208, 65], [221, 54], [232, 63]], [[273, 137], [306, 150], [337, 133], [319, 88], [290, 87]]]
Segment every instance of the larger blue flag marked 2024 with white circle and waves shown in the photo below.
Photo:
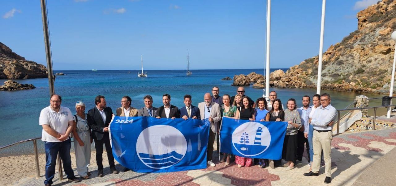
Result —
[[115, 116], [110, 135], [114, 158], [138, 173], [207, 167], [208, 120]]

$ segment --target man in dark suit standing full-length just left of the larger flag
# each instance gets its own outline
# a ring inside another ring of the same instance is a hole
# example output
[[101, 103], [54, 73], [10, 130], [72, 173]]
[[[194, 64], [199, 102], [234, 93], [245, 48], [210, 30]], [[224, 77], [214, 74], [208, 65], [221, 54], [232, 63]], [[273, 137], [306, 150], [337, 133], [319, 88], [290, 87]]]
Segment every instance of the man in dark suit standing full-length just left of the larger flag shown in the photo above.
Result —
[[113, 174], [118, 174], [118, 171], [114, 165], [114, 157], [110, 146], [109, 136], [109, 124], [113, 115], [113, 111], [110, 107], [106, 107], [105, 96], [96, 96], [95, 105], [96, 107], [93, 107], [88, 111], [87, 121], [89, 128], [92, 129], [92, 138], [95, 141], [98, 177], [103, 177], [103, 144], [105, 144], [106, 147], [110, 172]]

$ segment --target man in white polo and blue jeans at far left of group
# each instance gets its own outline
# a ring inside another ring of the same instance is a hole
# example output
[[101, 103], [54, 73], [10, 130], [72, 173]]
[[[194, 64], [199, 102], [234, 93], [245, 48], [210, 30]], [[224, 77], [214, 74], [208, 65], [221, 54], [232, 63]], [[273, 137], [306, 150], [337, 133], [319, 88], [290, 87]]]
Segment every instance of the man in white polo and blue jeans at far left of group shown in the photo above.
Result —
[[41, 110], [39, 124], [43, 127], [41, 140], [46, 150], [46, 186], [52, 185], [55, 176], [57, 154], [63, 161], [63, 170], [71, 182], [80, 180], [74, 176], [70, 159], [71, 141], [69, 135], [73, 130], [73, 116], [70, 109], [61, 107], [62, 98], [55, 94], [51, 96], [50, 105]]

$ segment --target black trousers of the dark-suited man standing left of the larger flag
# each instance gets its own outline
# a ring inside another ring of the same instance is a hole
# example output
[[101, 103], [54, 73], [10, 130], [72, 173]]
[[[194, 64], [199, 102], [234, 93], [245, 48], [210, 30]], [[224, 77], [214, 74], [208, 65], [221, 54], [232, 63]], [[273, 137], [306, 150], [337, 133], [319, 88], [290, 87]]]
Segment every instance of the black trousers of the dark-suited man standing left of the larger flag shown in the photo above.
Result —
[[109, 159], [110, 169], [112, 169], [115, 167], [115, 165], [114, 165], [113, 151], [110, 146], [110, 137], [109, 137], [108, 132], [106, 132], [103, 135], [103, 138], [101, 140], [95, 140], [96, 164], [98, 165], [99, 170], [103, 170], [103, 163], [102, 163], [103, 162], [103, 158], [102, 158], [103, 144], [106, 147], [107, 158]]

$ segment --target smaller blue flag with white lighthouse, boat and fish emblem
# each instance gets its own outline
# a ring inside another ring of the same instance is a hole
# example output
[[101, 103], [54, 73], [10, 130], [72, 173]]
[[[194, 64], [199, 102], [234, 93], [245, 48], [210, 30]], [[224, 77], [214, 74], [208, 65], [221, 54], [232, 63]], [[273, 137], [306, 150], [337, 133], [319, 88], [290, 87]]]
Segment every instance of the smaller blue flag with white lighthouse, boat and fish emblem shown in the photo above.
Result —
[[280, 160], [287, 122], [259, 122], [223, 117], [220, 152], [247, 158]]

